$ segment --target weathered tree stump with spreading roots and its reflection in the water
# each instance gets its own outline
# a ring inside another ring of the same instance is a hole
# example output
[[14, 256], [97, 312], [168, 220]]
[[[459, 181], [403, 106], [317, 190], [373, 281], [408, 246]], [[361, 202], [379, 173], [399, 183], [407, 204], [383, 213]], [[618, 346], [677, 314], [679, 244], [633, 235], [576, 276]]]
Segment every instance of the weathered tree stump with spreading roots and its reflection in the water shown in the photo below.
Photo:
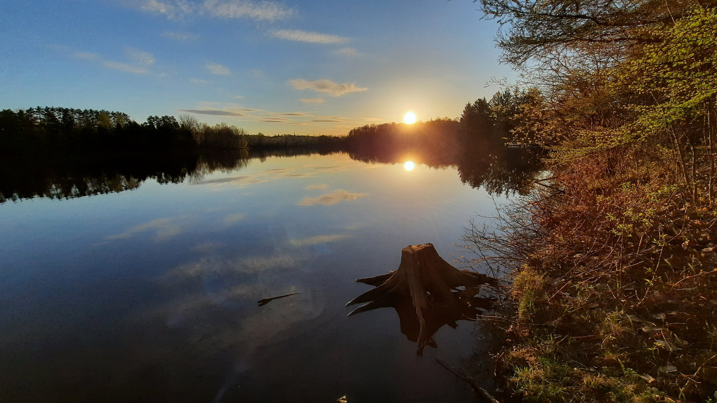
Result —
[[401, 332], [418, 343], [419, 356], [424, 346], [436, 347], [432, 337], [443, 325], [455, 329], [456, 321], [475, 321], [478, 314], [490, 309], [490, 299], [478, 294], [485, 285], [499, 286], [495, 278], [451, 266], [431, 243], [403, 248], [397, 271], [357, 278], [356, 282], [375, 288], [348, 301], [346, 306], [368, 303], [348, 316], [378, 308], [395, 309]]

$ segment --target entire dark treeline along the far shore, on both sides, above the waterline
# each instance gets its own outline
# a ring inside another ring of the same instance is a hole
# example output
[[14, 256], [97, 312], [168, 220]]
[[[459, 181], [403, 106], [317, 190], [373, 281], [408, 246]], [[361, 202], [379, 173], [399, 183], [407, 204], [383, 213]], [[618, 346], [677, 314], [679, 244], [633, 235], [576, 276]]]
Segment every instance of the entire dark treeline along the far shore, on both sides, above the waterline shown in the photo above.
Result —
[[[490, 101], [468, 103], [460, 119], [439, 118], [413, 125], [384, 123], [357, 127], [347, 137], [276, 135], [226, 123], [207, 125], [191, 115], [150, 116], [131, 120], [124, 112], [32, 107], [0, 111], [0, 154], [242, 150], [321, 147], [323, 150], [371, 151], [377, 157], [405, 152], [445, 152], [475, 142], [513, 142], [516, 117], [528, 102], [526, 92], [505, 90]], [[424, 155], [428, 153], [424, 152]]]

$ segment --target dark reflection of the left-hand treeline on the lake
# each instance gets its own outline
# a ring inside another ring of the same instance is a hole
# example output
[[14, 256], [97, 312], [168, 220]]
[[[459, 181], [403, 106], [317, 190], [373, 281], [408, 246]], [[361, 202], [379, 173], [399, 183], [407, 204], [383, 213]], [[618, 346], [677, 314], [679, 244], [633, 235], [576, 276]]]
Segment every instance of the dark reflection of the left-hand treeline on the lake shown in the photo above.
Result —
[[67, 199], [134, 190], [146, 180], [182, 183], [200, 181], [214, 171], [229, 172], [249, 165], [252, 158], [290, 157], [329, 150], [229, 150], [166, 154], [6, 156], [0, 164], [0, 203], [31, 198]]

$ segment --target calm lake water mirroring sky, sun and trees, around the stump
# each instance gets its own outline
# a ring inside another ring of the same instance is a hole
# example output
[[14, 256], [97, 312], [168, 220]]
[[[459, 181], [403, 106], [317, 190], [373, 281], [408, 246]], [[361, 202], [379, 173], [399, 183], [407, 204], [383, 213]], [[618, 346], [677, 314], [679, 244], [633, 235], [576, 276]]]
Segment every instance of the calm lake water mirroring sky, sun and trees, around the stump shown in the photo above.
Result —
[[473, 323], [419, 357], [395, 311], [344, 304], [409, 244], [460, 256], [463, 228], [493, 211], [486, 188], [504, 198], [531, 172], [343, 153], [118, 161], [3, 168], [0, 401], [473, 401], [432, 359], [472, 365]]

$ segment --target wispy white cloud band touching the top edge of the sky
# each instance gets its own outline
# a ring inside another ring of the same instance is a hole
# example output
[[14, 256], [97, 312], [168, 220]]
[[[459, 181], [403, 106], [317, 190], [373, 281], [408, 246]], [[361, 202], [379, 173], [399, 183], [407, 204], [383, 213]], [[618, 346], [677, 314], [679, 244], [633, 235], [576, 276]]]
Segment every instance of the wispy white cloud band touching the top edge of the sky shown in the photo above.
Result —
[[294, 9], [267, 0], [204, 0], [201, 3], [186, 0], [134, 0], [132, 4], [142, 11], [163, 15], [168, 19], [184, 19], [187, 16], [200, 15], [224, 19], [276, 21], [296, 14]]

